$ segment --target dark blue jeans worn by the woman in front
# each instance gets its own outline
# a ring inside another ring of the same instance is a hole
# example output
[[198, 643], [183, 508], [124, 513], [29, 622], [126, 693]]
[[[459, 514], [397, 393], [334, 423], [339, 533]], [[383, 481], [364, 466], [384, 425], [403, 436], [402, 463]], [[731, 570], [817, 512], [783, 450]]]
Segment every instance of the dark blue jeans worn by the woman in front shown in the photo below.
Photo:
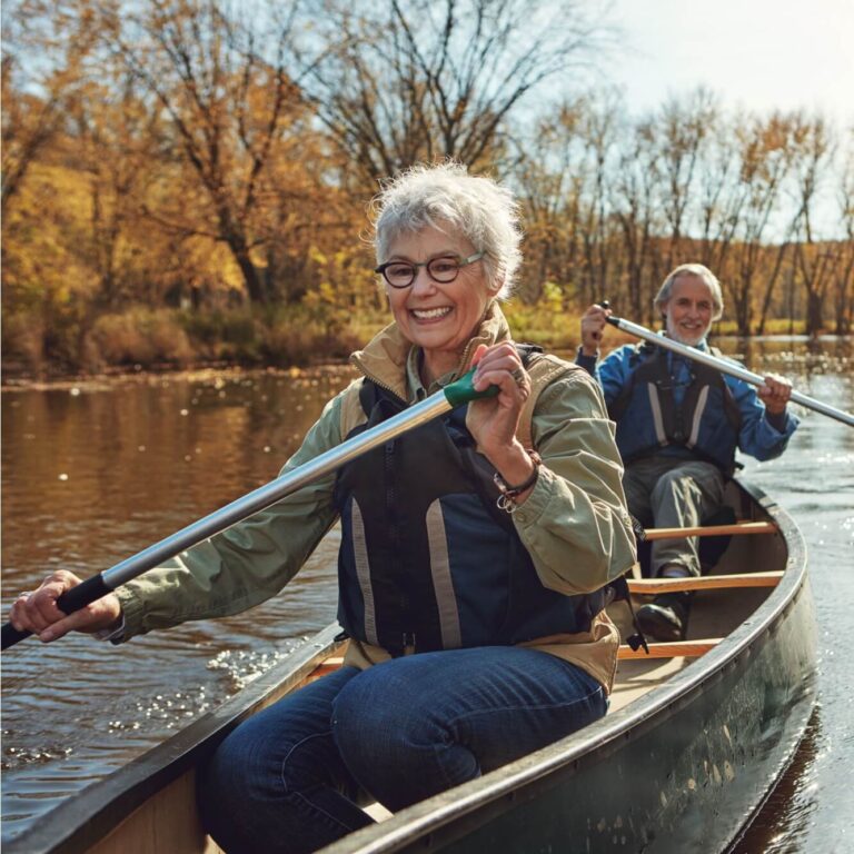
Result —
[[229, 854], [311, 852], [605, 714], [602, 685], [534, 649], [478, 647], [342, 667], [239, 725], [199, 773]]

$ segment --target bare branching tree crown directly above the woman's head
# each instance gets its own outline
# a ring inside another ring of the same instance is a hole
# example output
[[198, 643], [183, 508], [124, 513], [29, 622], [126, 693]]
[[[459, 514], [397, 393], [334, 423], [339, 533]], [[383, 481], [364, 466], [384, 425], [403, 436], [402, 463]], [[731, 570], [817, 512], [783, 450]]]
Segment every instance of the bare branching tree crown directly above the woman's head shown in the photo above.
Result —
[[495, 167], [519, 106], [572, 80], [606, 36], [578, 0], [321, 7], [321, 38], [338, 47], [304, 86], [359, 189], [416, 161]]

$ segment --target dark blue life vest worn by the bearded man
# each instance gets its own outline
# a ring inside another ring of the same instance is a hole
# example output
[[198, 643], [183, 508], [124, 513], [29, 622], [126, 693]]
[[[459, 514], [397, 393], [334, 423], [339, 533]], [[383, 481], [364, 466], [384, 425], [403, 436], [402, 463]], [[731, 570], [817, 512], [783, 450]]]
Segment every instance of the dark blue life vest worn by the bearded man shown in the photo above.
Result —
[[678, 446], [732, 475], [742, 417], [721, 371], [691, 363], [691, 381], [677, 405], [667, 350], [644, 342], [629, 356], [629, 366], [628, 381], [608, 404], [624, 463]]

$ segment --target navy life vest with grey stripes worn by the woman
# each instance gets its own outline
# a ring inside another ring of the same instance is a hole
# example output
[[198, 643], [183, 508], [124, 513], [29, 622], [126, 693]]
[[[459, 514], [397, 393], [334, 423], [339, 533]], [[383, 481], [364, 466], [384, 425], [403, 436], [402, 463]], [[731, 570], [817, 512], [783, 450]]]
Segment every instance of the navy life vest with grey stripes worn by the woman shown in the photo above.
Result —
[[[406, 408], [367, 378], [359, 400], [368, 420], [348, 438]], [[606, 588], [565, 596], [543, 586], [496, 506], [495, 469], [475, 450], [466, 411], [368, 451], [337, 477], [338, 620], [393, 655], [585, 632], [606, 604]]]

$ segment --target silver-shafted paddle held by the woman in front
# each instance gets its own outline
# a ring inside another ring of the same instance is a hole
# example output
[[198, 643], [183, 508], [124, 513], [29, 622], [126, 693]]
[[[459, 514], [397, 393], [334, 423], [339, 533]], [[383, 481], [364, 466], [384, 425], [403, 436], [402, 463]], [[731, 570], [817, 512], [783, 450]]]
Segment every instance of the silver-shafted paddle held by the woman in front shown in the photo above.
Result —
[[[308, 463], [288, 471], [275, 480], [247, 493], [215, 510], [208, 516], [193, 522], [176, 534], [161, 539], [159, 543], [145, 548], [142, 552], [126, 558], [116, 566], [105, 569], [102, 573], [87, 578], [82, 584], [72, 587], [57, 599], [57, 607], [66, 614], [85, 608], [92, 602], [100, 599], [117, 587], [127, 584], [138, 575], [160, 566], [163, 560], [173, 557], [191, 546], [224, 532], [241, 519], [247, 518], [271, 504], [281, 500], [291, 493], [317, 480], [367, 451], [383, 445], [386, 441], [400, 436], [404, 433], [419, 427], [427, 421], [438, 418], [445, 413], [456, 409], [470, 400], [483, 397], [495, 397], [498, 394], [497, 386], [489, 386], [483, 391], [476, 391], [471, 385], [475, 369], [460, 377], [456, 383], [445, 386], [439, 391], [430, 395], [420, 403], [398, 413], [381, 424], [371, 427], [351, 439], [342, 441], [335, 448], [320, 454]], [[31, 632], [19, 632], [11, 623], [2, 627], [2, 648], [13, 646], [19, 640], [29, 637]]]

